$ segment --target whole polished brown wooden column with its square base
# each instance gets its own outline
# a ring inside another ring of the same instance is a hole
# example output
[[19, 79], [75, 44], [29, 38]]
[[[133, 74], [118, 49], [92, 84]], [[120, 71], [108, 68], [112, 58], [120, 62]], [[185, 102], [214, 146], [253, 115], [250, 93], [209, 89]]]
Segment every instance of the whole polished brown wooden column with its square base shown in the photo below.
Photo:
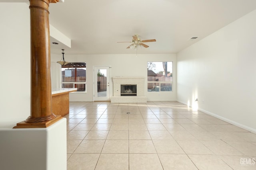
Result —
[[30, 0], [31, 87], [30, 116], [14, 128], [48, 127], [62, 117], [52, 113], [49, 4], [59, 0]]

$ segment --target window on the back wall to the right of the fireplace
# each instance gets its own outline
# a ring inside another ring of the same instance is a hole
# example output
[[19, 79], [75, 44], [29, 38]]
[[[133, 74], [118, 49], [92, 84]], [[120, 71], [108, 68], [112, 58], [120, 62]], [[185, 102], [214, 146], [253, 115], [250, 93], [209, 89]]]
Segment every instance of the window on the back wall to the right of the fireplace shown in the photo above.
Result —
[[172, 62], [148, 62], [148, 92], [172, 91]]

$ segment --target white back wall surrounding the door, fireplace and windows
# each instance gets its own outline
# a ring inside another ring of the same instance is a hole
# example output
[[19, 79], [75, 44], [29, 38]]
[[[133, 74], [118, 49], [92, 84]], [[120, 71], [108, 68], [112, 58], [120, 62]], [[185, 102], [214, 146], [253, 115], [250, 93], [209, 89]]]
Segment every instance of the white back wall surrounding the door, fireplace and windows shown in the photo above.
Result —
[[[51, 55], [52, 62], [57, 62], [60, 55]], [[144, 76], [147, 80], [148, 61], [173, 61], [174, 84], [173, 92], [147, 92], [145, 82], [145, 95], [148, 101], [176, 100], [176, 55], [175, 54], [136, 54], [132, 55], [68, 55], [68, 62], [86, 62], [87, 93], [72, 93], [70, 101], [93, 101], [93, 66], [111, 66], [110, 78], [114, 76]], [[113, 82], [110, 81], [110, 96], [113, 95]]]

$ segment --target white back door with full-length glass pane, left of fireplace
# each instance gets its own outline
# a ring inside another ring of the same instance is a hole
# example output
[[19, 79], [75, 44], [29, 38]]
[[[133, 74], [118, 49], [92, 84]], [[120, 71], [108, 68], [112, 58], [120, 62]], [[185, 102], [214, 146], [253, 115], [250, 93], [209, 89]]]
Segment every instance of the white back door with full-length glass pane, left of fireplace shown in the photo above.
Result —
[[110, 66], [94, 66], [94, 101], [110, 101]]

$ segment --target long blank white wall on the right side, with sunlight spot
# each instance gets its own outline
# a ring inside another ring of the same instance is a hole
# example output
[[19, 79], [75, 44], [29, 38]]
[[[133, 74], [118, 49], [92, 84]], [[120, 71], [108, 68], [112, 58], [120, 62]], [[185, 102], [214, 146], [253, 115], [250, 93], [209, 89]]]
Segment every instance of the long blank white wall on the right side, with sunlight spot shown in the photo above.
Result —
[[256, 10], [177, 54], [178, 101], [254, 132], [255, 18]]

